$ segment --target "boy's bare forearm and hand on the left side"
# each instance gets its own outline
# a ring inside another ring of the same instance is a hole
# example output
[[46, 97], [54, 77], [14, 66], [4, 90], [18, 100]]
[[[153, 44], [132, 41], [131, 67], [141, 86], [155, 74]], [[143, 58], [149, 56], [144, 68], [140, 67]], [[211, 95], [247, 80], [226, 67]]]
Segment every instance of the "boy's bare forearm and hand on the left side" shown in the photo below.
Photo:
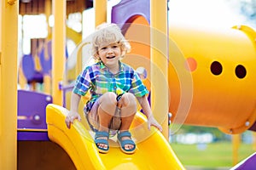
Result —
[[70, 124], [74, 122], [75, 119], [81, 121], [81, 116], [79, 115], [79, 102], [81, 96], [79, 94], [72, 93], [71, 95], [71, 106], [70, 111], [68, 112], [65, 122], [68, 128], [70, 128]]

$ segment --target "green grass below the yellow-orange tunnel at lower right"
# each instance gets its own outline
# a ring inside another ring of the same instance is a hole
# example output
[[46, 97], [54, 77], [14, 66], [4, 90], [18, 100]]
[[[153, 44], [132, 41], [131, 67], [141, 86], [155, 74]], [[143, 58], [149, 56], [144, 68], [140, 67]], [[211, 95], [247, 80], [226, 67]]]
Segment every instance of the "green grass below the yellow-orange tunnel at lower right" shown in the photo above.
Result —
[[[207, 144], [205, 150], [199, 150], [197, 144], [171, 144], [183, 166], [233, 167], [232, 143], [218, 142]], [[238, 161], [253, 154], [253, 144], [240, 144]]]

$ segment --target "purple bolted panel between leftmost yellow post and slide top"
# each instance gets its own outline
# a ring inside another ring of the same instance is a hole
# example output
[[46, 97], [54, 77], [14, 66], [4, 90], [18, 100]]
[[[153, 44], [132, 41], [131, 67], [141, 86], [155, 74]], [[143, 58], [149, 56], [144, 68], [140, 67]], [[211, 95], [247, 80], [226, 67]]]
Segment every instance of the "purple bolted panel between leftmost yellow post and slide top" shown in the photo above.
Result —
[[34, 132], [33, 130], [46, 131], [45, 111], [46, 106], [50, 103], [52, 103], [52, 97], [47, 94], [18, 90], [19, 131], [22, 131], [22, 129], [31, 129], [32, 132]]

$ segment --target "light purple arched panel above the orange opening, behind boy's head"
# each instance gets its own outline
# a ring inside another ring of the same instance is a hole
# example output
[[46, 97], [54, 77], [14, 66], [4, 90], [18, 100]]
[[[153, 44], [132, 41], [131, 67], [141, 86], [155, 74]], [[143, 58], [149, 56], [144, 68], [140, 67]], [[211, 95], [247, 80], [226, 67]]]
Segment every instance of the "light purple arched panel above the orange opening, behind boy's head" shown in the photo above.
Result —
[[122, 28], [125, 22], [134, 15], [143, 15], [148, 20], [148, 23], [150, 23], [150, 1], [122, 0], [113, 6], [111, 20]]

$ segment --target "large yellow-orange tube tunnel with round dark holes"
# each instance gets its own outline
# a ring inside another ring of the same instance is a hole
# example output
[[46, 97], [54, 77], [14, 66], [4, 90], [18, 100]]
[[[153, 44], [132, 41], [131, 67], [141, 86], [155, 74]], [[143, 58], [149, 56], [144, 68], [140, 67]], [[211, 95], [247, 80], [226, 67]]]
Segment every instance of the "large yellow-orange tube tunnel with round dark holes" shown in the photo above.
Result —
[[[231, 134], [255, 131], [256, 32], [247, 26], [203, 31], [172, 24], [169, 32], [183, 52], [193, 79], [193, 101], [184, 123], [218, 127]], [[172, 67], [168, 71], [174, 100], [169, 111], [175, 115], [181, 94], [175, 90], [179, 85]]]

